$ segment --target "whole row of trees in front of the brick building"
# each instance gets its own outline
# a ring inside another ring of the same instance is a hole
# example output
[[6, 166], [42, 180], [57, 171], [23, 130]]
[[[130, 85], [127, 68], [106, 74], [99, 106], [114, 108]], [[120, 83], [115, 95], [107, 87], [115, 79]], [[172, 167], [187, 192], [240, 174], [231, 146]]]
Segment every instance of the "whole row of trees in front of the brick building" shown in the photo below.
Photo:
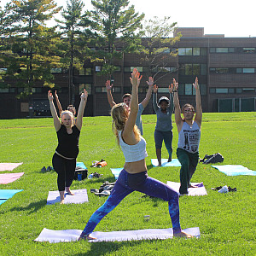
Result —
[[38, 81], [53, 88], [52, 68], [64, 68], [74, 95], [74, 69], [84, 61], [101, 62], [100, 75], [109, 78], [124, 53], [143, 54], [150, 75], [165, 66], [166, 45], [180, 38], [171, 37], [177, 26], [171, 17], [145, 20], [129, 0], [92, 0], [91, 5], [87, 10], [82, 0], [67, 0], [64, 9], [54, 0], [12, 0], [1, 8], [0, 86], [15, 81], [25, 89], [20, 96], [29, 96]]

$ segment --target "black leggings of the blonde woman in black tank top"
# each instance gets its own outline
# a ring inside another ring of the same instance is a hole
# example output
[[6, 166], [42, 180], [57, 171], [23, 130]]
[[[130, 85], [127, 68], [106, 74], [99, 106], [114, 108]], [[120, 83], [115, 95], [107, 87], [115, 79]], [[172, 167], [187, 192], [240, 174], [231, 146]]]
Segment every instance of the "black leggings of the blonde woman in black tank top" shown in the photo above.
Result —
[[67, 160], [58, 154], [53, 155], [52, 166], [55, 172], [58, 173], [57, 183], [59, 191], [64, 191], [65, 187], [70, 187], [73, 183], [76, 162], [76, 159]]

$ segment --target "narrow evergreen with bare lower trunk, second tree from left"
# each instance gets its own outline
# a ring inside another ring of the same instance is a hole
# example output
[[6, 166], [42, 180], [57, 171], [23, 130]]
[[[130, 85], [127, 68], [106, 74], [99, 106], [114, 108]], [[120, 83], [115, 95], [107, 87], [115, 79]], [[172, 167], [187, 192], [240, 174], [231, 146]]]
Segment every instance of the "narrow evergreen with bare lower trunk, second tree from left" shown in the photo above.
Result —
[[[68, 86], [70, 93], [69, 101], [74, 104], [73, 73], [74, 68], [80, 69], [84, 66], [84, 56], [88, 57], [88, 38], [90, 31], [88, 26], [90, 20], [88, 15], [82, 14], [84, 3], [82, 0], [68, 0], [67, 9], [61, 13], [63, 21], [56, 20], [61, 29], [62, 38], [62, 64], [68, 69]], [[86, 51], [87, 49], [87, 51]]]

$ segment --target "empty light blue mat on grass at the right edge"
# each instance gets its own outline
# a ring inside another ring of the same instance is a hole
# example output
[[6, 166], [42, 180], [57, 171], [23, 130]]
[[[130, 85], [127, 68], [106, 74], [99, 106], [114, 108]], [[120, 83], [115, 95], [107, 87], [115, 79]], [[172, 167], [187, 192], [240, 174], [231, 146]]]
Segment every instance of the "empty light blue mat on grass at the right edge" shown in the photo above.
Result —
[[256, 175], [256, 171], [252, 171], [247, 167], [241, 165], [226, 165], [226, 166], [212, 166], [213, 168], [218, 169], [219, 172], [223, 172], [228, 176], [237, 176], [237, 175]]

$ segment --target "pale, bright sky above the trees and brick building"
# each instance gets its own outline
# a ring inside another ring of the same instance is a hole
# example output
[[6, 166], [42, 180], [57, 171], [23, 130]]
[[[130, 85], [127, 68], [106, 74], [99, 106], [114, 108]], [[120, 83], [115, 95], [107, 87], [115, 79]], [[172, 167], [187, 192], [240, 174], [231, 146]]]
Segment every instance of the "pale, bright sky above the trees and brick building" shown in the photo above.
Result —
[[[9, 3], [1, 0], [1, 5]], [[65, 6], [67, 1], [55, 0]], [[256, 1], [254, 0], [130, 0], [146, 19], [171, 16], [179, 27], [204, 27], [205, 34], [224, 34], [226, 38], [256, 37]], [[90, 0], [84, 0], [85, 9], [91, 9]]]

